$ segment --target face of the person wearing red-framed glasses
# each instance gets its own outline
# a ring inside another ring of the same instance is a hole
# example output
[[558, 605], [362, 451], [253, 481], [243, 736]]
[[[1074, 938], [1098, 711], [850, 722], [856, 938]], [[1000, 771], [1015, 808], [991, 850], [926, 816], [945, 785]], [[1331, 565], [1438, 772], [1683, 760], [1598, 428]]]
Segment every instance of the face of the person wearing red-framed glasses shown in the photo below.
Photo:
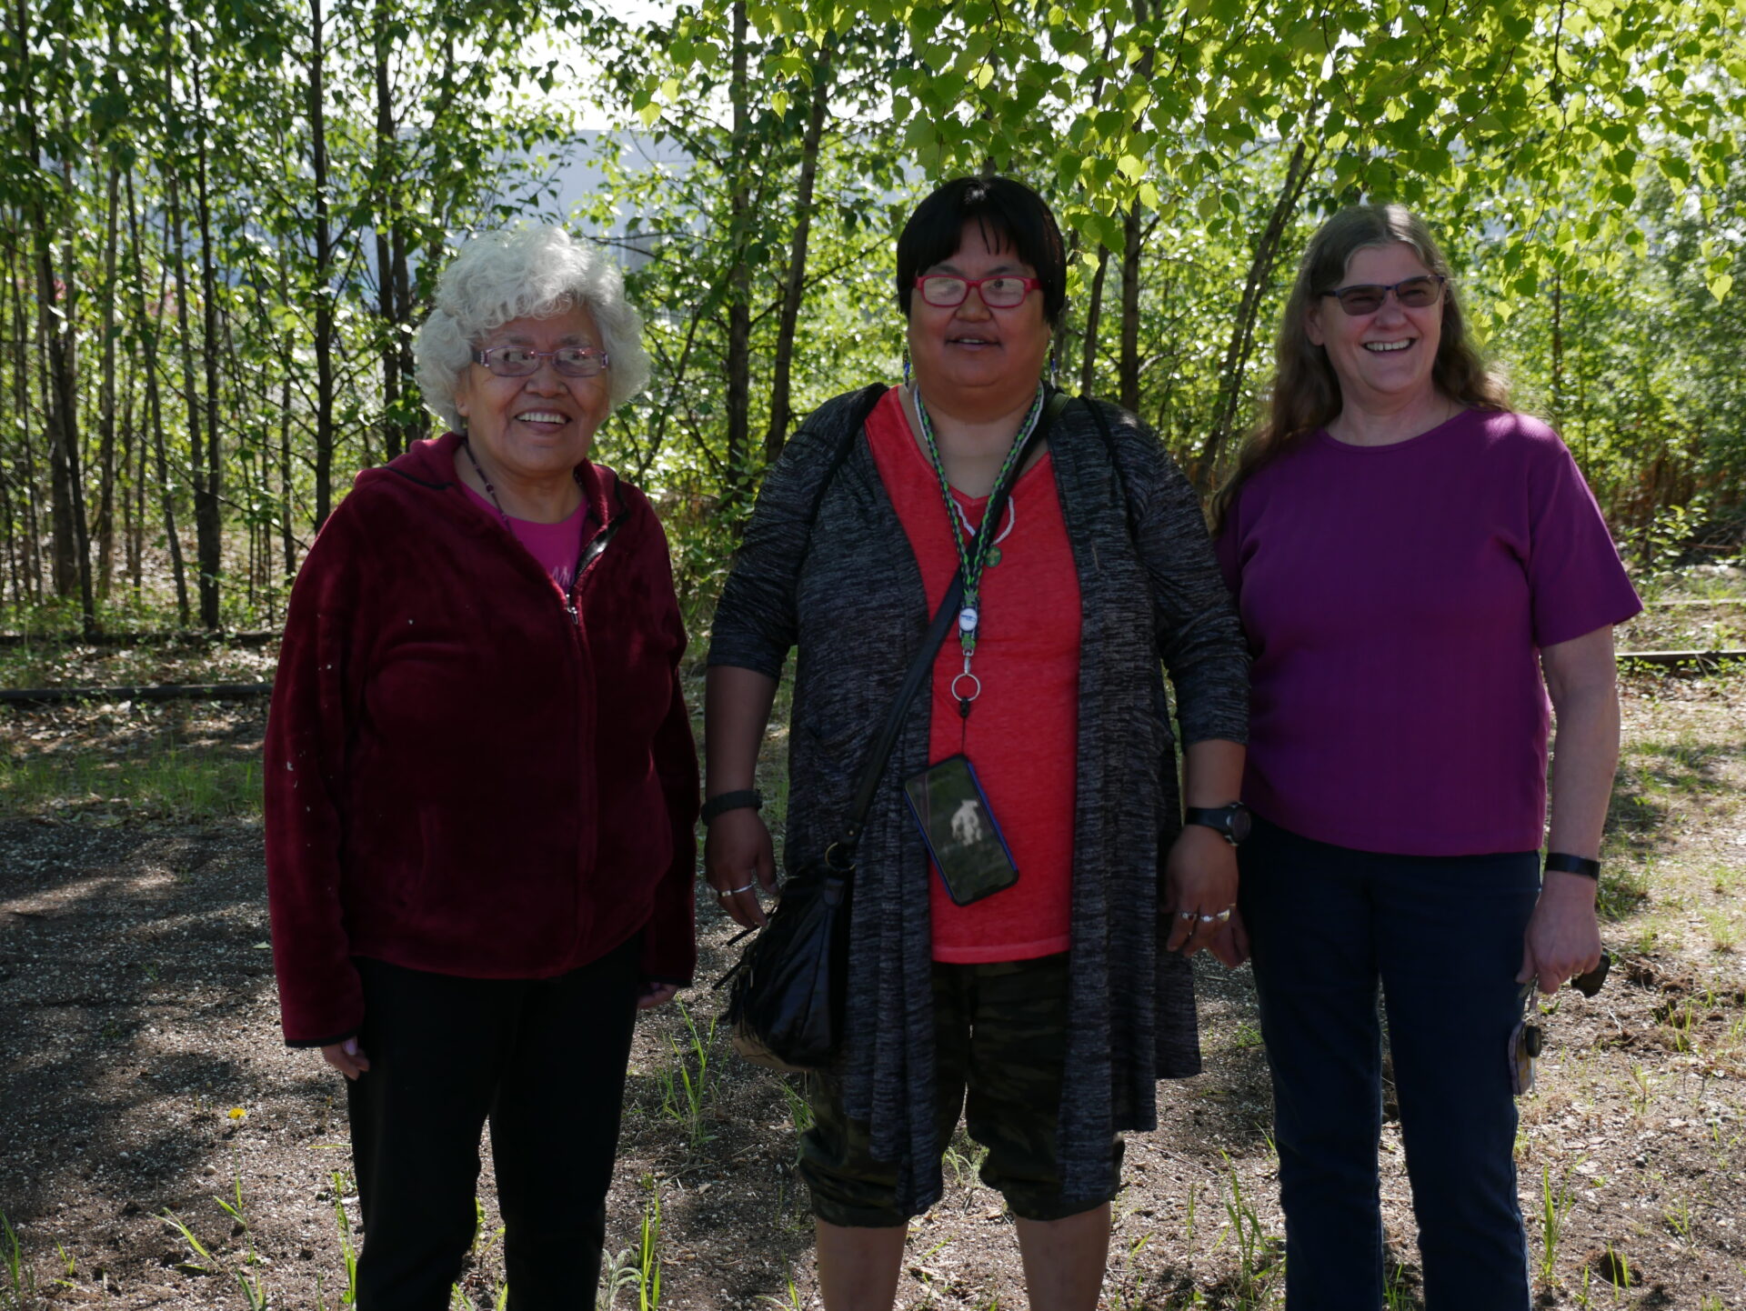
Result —
[[[990, 250], [988, 237], [999, 250]], [[999, 232], [990, 229], [988, 237], [981, 223], [966, 223], [952, 257], [922, 269], [922, 274], [1037, 276], [1009, 243], [1000, 241]], [[962, 419], [1023, 407], [1037, 389], [1048, 356], [1049, 325], [1041, 290], [1011, 309], [988, 309], [976, 288], [960, 305], [929, 305], [920, 292], [910, 297], [910, 360], [929, 407], [939, 405]]]

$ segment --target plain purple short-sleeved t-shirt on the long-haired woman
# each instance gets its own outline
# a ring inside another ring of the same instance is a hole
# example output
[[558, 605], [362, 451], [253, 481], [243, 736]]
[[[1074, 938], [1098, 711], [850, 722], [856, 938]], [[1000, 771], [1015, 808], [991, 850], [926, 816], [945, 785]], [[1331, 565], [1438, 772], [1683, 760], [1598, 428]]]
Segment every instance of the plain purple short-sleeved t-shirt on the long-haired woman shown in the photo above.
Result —
[[1402, 855], [1540, 847], [1543, 646], [1641, 609], [1564, 443], [1467, 410], [1407, 442], [1316, 433], [1219, 538], [1254, 653], [1243, 800]]

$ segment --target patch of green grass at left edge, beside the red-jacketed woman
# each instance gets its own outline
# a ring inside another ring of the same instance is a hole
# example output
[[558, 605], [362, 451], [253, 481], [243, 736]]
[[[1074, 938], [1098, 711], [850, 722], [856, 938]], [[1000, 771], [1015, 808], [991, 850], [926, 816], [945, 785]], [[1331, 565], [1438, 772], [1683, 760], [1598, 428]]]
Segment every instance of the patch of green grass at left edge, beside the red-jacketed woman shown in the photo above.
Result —
[[0, 810], [194, 822], [258, 815], [260, 759], [253, 752], [189, 751], [175, 742], [119, 759], [89, 751], [0, 758]]

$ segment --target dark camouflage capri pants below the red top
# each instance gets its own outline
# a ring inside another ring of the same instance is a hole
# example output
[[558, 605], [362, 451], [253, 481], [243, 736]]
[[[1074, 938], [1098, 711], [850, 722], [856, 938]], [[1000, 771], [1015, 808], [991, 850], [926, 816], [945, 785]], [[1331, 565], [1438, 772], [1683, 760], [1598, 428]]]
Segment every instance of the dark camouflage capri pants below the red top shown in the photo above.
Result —
[[[962, 1110], [971, 1138], [988, 1149], [983, 1184], [1025, 1220], [1062, 1220], [1109, 1201], [1062, 1196], [1055, 1122], [1065, 1056], [1065, 951], [988, 965], [934, 962], [934, 1142], [943, 1152]], [[800, 1140], [800, 1177], [814, 1215], [854, 1227], [906, 1224], [897, 1164], [873, 1157], [868, 1124], [843, 1114], [836, 1081], [808, 1075], [807, 1100], [814, 1124]], [[1117, 1136], [1117, 1177], [1121, 1150]]]

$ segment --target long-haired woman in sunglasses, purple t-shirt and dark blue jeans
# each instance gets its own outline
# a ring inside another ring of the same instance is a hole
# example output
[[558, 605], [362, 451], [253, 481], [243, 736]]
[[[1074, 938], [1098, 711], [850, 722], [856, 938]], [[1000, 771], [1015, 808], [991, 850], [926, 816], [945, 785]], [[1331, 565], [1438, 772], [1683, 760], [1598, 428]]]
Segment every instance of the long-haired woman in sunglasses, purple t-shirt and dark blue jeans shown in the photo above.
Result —
[[1254, 656], [1238, 944], [1292, 1311], [1383, 1302], [1378, 985], [1426, 1308], [1528, 1308], [1510, 1037], [1524, 985], [1601, 955], [1612, 630], [1639, 604], [1570, 452], [1505, 400], [1425, 223], [1346, 209], [1215, 508]]

